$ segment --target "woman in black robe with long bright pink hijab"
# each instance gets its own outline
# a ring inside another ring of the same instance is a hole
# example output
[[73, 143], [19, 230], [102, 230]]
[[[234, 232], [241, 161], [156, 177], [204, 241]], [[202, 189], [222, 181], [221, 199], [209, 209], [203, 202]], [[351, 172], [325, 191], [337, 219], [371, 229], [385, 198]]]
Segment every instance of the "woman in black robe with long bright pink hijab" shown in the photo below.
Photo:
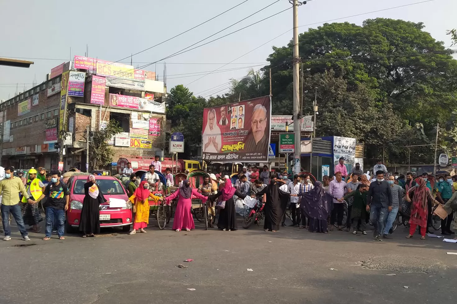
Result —
[[236, 223], [235, 201], [233, 196], [236, 195], [239, 198], [244, 199], [246, 195], [236, 190], [227, 175], [226, 177], [227, 178], [223, 183], [222, 190], [219, 190], [217, 194], [209, 196], [209, 199], [213, 201], [216, 198], [220, 197], [221, 201], [225, 201], [224, 208], [219, 209], [218, 228], [222, 231], [238, 230], [238, 225]]

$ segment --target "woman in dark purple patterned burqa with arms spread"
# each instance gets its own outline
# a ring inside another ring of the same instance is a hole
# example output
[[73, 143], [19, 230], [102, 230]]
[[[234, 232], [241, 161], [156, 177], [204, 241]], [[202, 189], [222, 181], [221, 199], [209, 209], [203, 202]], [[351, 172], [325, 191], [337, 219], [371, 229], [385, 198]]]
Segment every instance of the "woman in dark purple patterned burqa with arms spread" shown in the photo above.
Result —
[[328, 233], [327, 218], [332, 211], [332, 196], [320, 181], [314, 183], [314, 189], [302, 194], [300, 207], [309, 219], [310, 232]]

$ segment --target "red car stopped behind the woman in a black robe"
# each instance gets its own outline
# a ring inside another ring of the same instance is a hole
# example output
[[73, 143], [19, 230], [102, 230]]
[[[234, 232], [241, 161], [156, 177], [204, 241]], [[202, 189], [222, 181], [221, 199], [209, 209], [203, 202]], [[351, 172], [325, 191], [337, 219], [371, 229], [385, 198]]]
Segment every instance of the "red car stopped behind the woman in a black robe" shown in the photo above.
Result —
[[[87, 175], [74, 175], [68, 181], [70, 191], [70, 207], [66, 214], [65, 229], [74, 232], [80, 223], [81, 209], [84, 201], [84, 184]], [[109, 203], [100, 205], [100, 227], [122, 227], [122, 231], [130, 230], [132, 224], [132, 204], [121, 182], [113, 176], [96, 176], [96, 183], [106, 200], [118, 198], [126, 201], [125, 207], [110, 208]]]

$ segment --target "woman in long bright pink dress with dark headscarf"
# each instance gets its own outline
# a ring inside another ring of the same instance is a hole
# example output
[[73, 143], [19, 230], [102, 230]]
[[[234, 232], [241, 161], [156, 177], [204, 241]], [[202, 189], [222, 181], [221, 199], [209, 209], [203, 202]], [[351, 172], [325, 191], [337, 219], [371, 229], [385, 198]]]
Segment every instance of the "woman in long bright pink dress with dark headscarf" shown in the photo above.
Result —
[[192, 195], [201, 199], [203, 204], [206, 203], [207, 197], [198, 193], [197, 189], [192, 189], [189, 180], [184, 180], [181, 188], [165, 198], [167, 204], [176, 197], [178, 198], [175, 218], [173, 220], [173, 230], [181, 231], [182, 229], [186, 229], [186, 231], [191, 231], [191, 229], [195, 229], [194, 219], [191, 213]]

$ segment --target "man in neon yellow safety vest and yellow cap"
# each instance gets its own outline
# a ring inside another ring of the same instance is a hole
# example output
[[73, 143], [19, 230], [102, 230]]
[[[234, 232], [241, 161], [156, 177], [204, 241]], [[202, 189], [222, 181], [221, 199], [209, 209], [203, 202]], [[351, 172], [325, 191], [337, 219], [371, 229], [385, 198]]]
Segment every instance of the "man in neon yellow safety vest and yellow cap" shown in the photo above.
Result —
[[[28, 197], [33, 196], [33, 200], [36, 201], [44, 191], [43, 182], [37, 177], [37, 170], [32, 168], [29, 170], [29, 182], [27, 182], [27, 194]], [[41, 228], [38, 226], [39, 222], [43, 221], [38, 203], [27, 203], [27, 197], [22, 197], [22, 203], [26, 204], [24, 212], [24, 224], [33, 226], [31, 231], [39, 233]]]

